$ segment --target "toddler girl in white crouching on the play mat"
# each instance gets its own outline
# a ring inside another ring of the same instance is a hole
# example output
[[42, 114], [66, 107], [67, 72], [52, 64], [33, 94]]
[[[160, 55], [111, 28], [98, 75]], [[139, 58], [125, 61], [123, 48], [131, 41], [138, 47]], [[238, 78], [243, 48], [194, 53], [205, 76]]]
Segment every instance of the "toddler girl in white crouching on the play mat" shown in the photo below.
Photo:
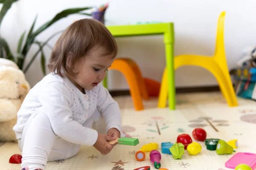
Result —
[[[46, 77], [23, 101], [13, 127], [22, 170], [44, 170], [47, 161], [68, 159], [81, 145], [108, 154], [120, 137], [119, 106], [100, 83], [117, 54], [112, 34], [93, 19], [71, 24], [56, 42]], [[106, 133], [93, 122], [105, 119]]]

